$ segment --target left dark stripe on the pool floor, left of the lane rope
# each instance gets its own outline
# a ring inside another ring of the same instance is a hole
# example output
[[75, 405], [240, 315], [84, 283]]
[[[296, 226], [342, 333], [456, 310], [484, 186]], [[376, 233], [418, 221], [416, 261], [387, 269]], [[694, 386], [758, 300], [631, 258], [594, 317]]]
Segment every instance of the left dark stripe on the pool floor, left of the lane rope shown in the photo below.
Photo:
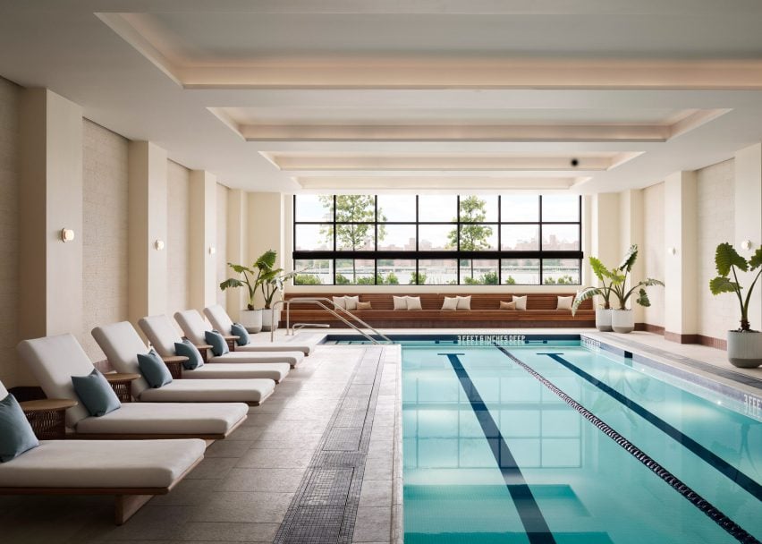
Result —
[[[524, 526], [524, 531], [527, 533], [530, 544], [555, 544], [553, 533], [547, 526], [545, 517], [543, 517], [540, 511], [534, 495], [532, 495], [532, 490], [529, 489], [527, 480], [521, 474], [519, 464], [516, 463], [511, 449], [505, 443], [503, 434], [487, 410], [487, 405], [484, 404], [481, 395], [478, 394], [478, 390], [471, 381], [469, 373], [463, 368], [461, 360], [458, 359], [458, 355], [462, 355], [462, 353], [439, 354], [446, 355], [450, 364], [453, 365], [455, 374], [461, 380], [461, 387], [463, 387], [463, 391], [465, 391], [466, 396], [469, 398], [471, 409], [477, 416], [479, 425], [481, 425], [481, 429], [484, 432], [484, 437], [487, 439], [487, 444], [489, 444], [489, 448], [492, 450], [492, 455], [495, 455], [497, 466], [500, 467], [500, 472], [503, 474], [505, 487], [511, 494], [513, 503], [516, 505], [521, 524]], [[496, 437], [497, 440], [493, 437]]]

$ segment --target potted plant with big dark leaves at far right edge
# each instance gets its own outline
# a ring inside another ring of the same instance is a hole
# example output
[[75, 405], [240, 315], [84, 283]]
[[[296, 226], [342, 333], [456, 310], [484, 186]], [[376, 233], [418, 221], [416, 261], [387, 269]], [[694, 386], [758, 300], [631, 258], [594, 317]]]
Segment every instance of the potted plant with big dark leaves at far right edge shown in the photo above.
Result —
[[[744, 259], [732, 247], [724, 242], [717, 246], [715, 251], [716, 276], [709, 281], [709, 290], [712, 294], [735, 293], [741, 307], [741, 327], [728, 331], [728, 361], [733, 366], [742, 369], [753, 369], [762, 364], [762, 333], [752, 330], [749, 325], [749, 302], [754, 286], [757, 285], [759, 276], [762, 275], [762, 247], [749, 258]], [[754, 272], [749, 291], [744, 298], [741, 283], [738, 280], [738, 270]], [[732, 276], [732, 278], [730, 277]]]

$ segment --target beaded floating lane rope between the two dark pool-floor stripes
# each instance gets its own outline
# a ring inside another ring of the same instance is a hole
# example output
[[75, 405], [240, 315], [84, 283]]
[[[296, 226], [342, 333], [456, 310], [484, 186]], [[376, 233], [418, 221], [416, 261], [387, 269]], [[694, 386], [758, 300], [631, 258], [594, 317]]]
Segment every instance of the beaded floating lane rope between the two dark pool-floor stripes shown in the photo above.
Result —
[[495, 344], [495, 347], [504, 353], [511, 361], [518, 364], [522, 369], [529, 372], [532, 378], [535, 378], [542, 385], [550, 389], [558, 395], [564, 403], [569, 404], [574, 410], [580, 412], [580, 415], [586, 420], [590, 421], [608, 438], [611, 438], [617, 445], [622, 447], [624, 451], [632, 455], [635, 459], [645, 465], [649, 471], [654, 472], [656, 476], [664, 480], [672, 489], [682, 495], [683, 498], [688, 500], [691, 505], [696, 506], [701, 512], [707, 515], [709, 519], [715, 522], [725, 532], [732, 536], [735, 540], [741, 542], [741, 544], [762, 544], [753, 535], [749, 534], [741, 525], [735, 523], [727, 515], [725, 515], [719, 508], [710, 503], [706, 498], [701, 497], [699, 493], [690, 489], [690, 487], [675, 476], [672, 472], [669, 472], [661, 464], [651, 459], [648, 454], [642, 451], [638, 446], [635, 446], [627, 438], [622, 437], [621, 434], [608, 426], [608, 424], [601, 420], [596, 414], [590, 412], [582, 404], [575, 401], [571, 396], [566, 395], [561, 389], [555, 386], [553, 382], [545, 378], [542, 374], [539, 374], [537, 370], [532, 369], [527, 363], [521, 361], [518, 357], [511, 352]]

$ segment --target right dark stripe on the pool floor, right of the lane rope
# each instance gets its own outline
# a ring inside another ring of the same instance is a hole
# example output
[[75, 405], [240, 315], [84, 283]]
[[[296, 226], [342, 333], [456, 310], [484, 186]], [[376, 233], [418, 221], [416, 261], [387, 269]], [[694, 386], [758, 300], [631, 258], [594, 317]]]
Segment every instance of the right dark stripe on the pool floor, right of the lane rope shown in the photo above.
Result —
[[606, 395], [612, 397], [615, 401], [629, 408], [632, 412], [637, 413], [641, 418], [651, 423], [654, 427], [656, 427], [656, 429], [661, 430], [669, 438], [672, 438], [678, 444], [686, 447], [691, 452], [698, 455], [700, 459], [708, 463], [717, 472], [722, 473], [729, 480], [732, 480], [741, 488], [749, 491], [749, 493], [756, 497], [758, 500], [762, 501], [762, 485], [759, 485], [755, 480], [749, 478], [749, 476], [741, 472], [736, 467], [732, 466], [731, 463], [728, 463], [719, 455], [716, 455], [714, 452], [707, 449], [707, 447], [702, 446], [693, 438], [683, 434], [679, 429], [675, 429], [672, 425], [661, 419], [654, 412], [648, 411], [648, 408], [645, 408], [630, 398], [627, 398], [625, 395], [622, 395], [622, 393], [614, 389], [614, 387], [611, 387], [595, 376], [588, 374], [585, 370], [580, 369], [580, 367], [574, 363], [563, 359], [561, 356], [563, 353], [538, 353], [538, 355], [547, 355], [554, 361], [561, 363], [565, 368], [572, 370], [572, 372], [577, 374], [577, 376], [585, 379], [603, 391]]

